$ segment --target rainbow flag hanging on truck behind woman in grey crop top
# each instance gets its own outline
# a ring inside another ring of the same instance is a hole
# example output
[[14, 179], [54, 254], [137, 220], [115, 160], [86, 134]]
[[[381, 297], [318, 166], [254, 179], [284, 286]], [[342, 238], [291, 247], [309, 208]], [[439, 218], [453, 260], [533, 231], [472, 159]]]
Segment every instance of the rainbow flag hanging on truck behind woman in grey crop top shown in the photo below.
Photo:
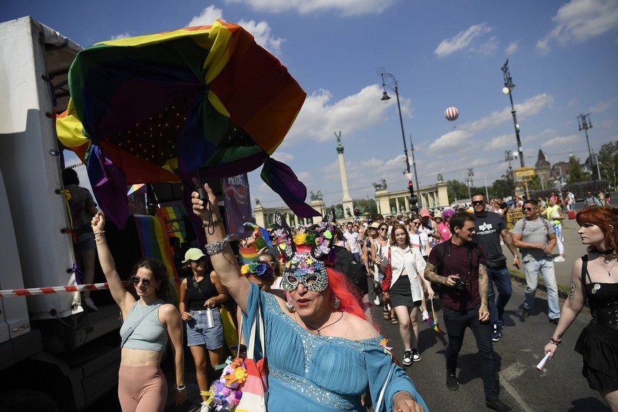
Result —
[[173, 262], [165, 220], [159, 216], [136, 214], [135, 226], [139, 235], [139, 245], [142, 247], [142, 255], [159, 259], [166, 265], [171, 292], [168, 303], [178, 306], [181, 280]]

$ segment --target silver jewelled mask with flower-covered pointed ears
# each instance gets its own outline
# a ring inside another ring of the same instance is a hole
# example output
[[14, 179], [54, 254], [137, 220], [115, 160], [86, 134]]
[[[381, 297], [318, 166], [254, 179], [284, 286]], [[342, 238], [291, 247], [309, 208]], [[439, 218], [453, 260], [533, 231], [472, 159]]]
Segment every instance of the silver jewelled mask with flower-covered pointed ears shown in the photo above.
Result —
[[281, 286], [288, 292], [302, 283], [311, 292], [322, 292], [328, 287], [326, 266], [335, 261], [331, 244], [335, 236], [335, 212], [331, 210], [322, 222], [304, 227], [292, 236], [292, 230], [279, 212], [275, 212], [273, 237], [285, 261]]

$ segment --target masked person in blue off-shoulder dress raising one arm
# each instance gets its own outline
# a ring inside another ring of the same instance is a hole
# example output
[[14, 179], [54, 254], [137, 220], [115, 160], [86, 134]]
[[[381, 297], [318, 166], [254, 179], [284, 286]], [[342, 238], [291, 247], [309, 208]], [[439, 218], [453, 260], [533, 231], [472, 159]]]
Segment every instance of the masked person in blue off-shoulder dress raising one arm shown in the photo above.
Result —
[[207, 199], [192, 194], [193, 212], [205, 227], [214, 270], [247, 319], [253, 319], [258, 307], [263, 314], [268, 411], [365, 411], [361, 396], [368, 389], [377, 412], [423, 411], [425, 402], [365, 319], [345, 276], [328, 267], [333, 263], [332, 212], [293, 240], [290, 227], [275, 214], [273, 233], [286, 261], [286, 301], [241, 275], [230, 236], [213, 207], [217, 200], [210, 187], [204, 187]]

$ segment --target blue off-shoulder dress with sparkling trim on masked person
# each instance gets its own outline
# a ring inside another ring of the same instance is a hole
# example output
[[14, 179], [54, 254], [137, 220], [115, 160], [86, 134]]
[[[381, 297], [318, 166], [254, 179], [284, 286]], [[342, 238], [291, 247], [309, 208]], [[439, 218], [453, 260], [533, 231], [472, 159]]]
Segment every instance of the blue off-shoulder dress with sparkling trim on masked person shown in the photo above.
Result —
[[[377, 338], [350, 341], [317, 336], [283, 313], [272, 294], [251, 285], [244, 330], [261, 304], [268, 361], [268, 411], [365, 411], [360, 396], [370, 389], [373, 404], [389, 378], [380, 411], [392, 411], [397, 391], [408, 391], [428, 411], [411, 379], [384, 353]], [[390, 376], [389, 376], [390, 374]], [[377, 411], [377, 412], [380, 412]]]

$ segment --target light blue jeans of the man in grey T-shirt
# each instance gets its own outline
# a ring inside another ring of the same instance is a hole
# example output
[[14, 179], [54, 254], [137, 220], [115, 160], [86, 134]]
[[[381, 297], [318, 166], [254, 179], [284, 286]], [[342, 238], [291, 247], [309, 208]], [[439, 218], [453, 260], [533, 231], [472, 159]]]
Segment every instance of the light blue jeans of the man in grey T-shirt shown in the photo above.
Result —
[[547, 305], [549, 306], [549, 319], [560, 317], [560, 307], [558, 304], [558, 286], [556, 285], [556, 274], [554, 273], [554, 262], [549, 256], [545, 256], [540, 261], [525, 261], [524, 274], [526, 275], [526, 292], [524, 297], [524, 307], [532, 309], [534, 296], [537, 294], [539, 285], [539, 273], [543, 276], [545, 287], [547, 288]]

